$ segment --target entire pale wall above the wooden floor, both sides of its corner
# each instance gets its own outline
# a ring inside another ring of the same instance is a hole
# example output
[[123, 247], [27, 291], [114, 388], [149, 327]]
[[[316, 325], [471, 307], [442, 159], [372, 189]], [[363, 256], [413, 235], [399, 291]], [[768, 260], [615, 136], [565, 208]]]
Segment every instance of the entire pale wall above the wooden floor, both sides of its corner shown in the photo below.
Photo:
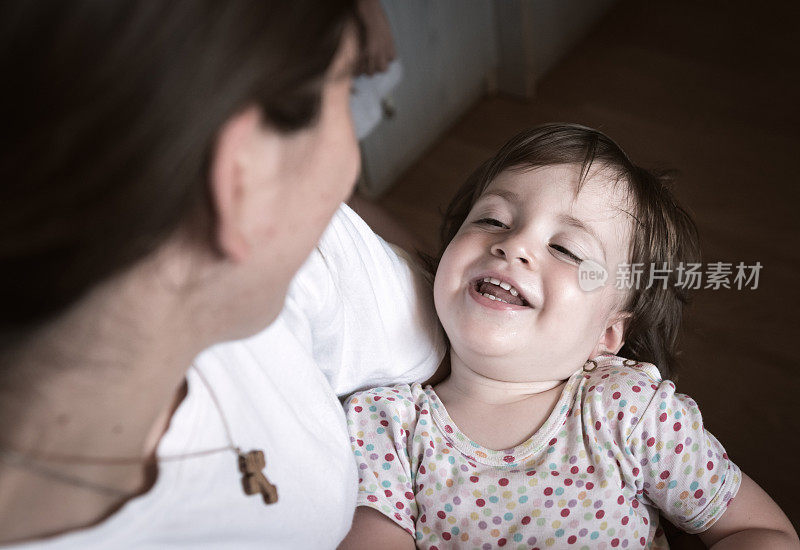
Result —
[[383, 0], [405, 76], [396, 116], [362, 142], [369, 195], [388, 189], [487, 90], [535, 83], [616, 0]]

